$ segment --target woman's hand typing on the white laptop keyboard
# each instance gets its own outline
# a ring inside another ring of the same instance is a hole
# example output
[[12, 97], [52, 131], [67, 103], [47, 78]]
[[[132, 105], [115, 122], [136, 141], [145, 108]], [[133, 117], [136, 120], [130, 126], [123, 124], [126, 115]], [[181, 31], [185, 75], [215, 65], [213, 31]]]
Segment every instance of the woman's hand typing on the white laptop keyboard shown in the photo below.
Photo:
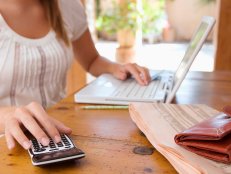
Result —
[[136, 63], [116, 64], [112, 74], [120, 80], [125, 80], [132, 76], [140, 85], [148, 85], [151, 81], [149, 70]]

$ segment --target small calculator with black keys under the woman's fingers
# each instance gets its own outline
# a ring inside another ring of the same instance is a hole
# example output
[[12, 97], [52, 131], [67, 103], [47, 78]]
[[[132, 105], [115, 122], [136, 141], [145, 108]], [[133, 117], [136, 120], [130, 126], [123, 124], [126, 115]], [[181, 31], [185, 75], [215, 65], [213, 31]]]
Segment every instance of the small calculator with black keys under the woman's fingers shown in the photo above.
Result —
[[50, 138], [48, 146], [43, 146], [32, 138], [32, 147], [28, 150], [32, 164], [35, 166], [51, 164], [61, 161], [80, 159], [85, 157], [85, 153], [77, 148], [70, 137], [65, 134], [61, 135], [61, 142], [55, 143]]

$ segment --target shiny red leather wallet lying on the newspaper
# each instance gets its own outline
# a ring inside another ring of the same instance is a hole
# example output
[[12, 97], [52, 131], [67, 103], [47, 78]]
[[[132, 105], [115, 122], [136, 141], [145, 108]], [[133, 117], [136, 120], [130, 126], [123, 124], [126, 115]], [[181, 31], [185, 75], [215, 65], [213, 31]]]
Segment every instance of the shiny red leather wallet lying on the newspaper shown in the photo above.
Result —
[[231, 106], [223, 112], [177, 134], [175, 142], [203, 157], [231, 163]]

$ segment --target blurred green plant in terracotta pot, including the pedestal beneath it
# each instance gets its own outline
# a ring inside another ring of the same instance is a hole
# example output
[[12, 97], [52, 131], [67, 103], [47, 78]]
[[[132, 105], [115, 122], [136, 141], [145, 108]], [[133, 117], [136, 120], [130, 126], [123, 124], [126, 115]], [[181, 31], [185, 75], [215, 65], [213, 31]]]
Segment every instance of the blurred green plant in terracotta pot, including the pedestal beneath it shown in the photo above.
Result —
[[116, 50], [117, 61], [120, 63], [134, 61], [138, 31], [141, 30], [141, 11], [136, 1], [113, 1], [109, 9], [99, 14], [96, 27], [100, 31], [117, 35], [119, 44]]

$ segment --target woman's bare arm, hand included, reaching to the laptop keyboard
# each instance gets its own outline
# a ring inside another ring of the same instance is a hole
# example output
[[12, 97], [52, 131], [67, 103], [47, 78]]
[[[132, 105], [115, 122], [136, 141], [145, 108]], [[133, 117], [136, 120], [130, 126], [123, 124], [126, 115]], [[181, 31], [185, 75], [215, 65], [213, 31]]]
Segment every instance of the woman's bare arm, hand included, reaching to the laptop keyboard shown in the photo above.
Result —
[[150, 82], [150, 75], [145, 67], [137, 64], [121, 65], [111, 62], [99, 55], [92, 41], [89, 30], [72, 43], [75, 57], [82, 67], [94, 76], [102, 73], [113, 74], [116, 78], [125, 80], [132, 75], [141, 85], [147, 85]]

